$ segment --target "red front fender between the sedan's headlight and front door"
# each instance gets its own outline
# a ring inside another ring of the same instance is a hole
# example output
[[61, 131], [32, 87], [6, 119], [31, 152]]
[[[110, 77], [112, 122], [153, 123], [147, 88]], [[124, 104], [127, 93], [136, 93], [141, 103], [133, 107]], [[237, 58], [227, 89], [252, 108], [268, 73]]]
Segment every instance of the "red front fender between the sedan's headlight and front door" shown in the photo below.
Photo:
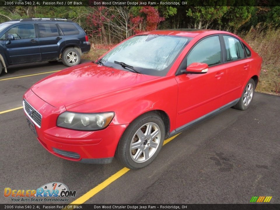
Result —
[[110, 125], [131, 123], [143, 113], [162, 110], [170, 119], [170, 129], [175, 129], [178, 84], [175, 76], [160, 77], [152, 81], [127, 87], [124, 90], [110, 92], [83, 101], [66, 105], [73, 112], [115, 112]]

